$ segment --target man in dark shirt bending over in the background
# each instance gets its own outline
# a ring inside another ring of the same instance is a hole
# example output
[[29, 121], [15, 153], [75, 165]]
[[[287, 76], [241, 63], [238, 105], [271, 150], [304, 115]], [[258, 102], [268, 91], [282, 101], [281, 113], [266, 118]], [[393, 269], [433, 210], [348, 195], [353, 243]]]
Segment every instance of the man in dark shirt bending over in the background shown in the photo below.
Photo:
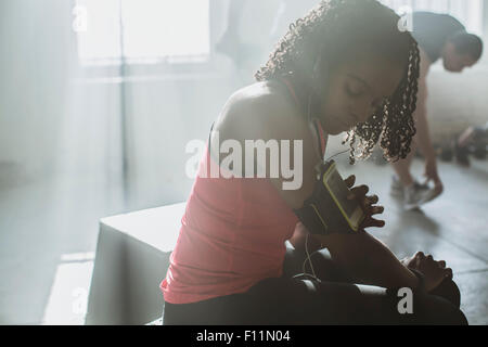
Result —
[[[407, 209], [418, 208], [433, 201], [442, 193], [444, 187], [437, 170], [436, 154], [431, 141], [427, 121], [427, 75], [431, 65], [442, 59], [448, 72], [461, 73], [472, 67], [483, 53], [483, 41], [479, 37], [468, 34], [465, 27], [447, 14], [431, 12], [413, 12], [413, 37], [419, 42], [421, 69], [416, 111], [414, 113], [418, 133], [414, 137], [412, 151], [406, 159], [393, 163], [396, 172], [391, 183], [391, 194], [403, 198]], [[412, 158], [419, 149], [425, 158], [427, 181], [435, 187], [415, 181], [410, 172]]]

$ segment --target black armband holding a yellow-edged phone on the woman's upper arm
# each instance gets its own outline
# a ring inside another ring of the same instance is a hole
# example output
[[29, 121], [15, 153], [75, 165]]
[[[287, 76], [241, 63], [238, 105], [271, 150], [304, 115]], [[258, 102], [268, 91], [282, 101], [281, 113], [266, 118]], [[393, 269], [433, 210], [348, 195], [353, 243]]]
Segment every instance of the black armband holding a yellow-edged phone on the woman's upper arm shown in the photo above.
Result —
[[356, 200], [347, 200], [350, 190], [337, 172], [333, 160], [316, 167], [317, 182], [312, 195], [295, 215], [311, 234], [356, 233], [364, 213]]

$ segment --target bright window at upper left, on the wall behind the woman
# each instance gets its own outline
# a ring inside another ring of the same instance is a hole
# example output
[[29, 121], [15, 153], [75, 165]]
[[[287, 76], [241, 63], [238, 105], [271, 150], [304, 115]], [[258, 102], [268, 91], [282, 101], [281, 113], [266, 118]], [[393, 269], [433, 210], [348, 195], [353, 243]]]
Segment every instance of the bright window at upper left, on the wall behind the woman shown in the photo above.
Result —
[[[85, 63], [208, 59], [209, 0], [77, 0], [74, 28]], [[121, 28], [124, 28], [121, 30]]]

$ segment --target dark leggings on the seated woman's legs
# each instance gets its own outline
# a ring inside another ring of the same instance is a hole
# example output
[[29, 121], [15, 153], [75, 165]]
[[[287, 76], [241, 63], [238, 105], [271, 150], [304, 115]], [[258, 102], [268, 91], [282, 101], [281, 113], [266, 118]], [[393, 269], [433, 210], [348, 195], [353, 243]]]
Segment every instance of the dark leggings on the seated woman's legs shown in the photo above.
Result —
[[294, 279], [303, 272], [304, 259], [304, 254], [288, 248], [281, 278], [266, 279], [243, 294], [193, 304], [166, 303], [164, 324], [467, 324], [452, 280], [429, 295], [414, 294], [413, 313], [400, 314], [397, 293], [350, 283], [325, 252], [311, 256], [320, 282]]

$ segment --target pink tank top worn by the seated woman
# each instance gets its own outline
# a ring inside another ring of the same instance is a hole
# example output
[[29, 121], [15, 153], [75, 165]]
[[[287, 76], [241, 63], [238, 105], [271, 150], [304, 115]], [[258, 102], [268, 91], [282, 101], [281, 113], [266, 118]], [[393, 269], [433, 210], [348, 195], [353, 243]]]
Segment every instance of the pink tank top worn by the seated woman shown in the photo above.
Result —
[[[323, 153], [320, 124], [318, 129]], [[210, 167], [218, 164], [208, 143], [205, 153], [159, 285], [170, 304], [244, 293], [264, 279], [281, 277], [285, 241], [298, 222], [268, 179], [210, 178]]]

